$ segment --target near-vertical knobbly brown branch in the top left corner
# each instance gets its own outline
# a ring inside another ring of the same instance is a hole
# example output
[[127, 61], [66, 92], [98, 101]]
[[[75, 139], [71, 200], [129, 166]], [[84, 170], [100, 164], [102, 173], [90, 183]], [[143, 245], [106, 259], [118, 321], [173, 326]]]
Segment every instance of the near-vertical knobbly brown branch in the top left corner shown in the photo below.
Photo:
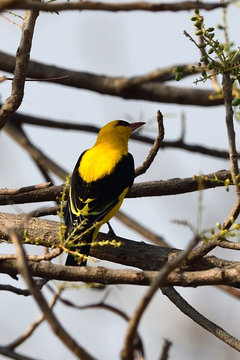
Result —
[[[36, 5], [39, 5], [41, 1], [37, 0], [35, 3]], [[24, 83], [27, 77], [27, 68], [30, 60], [33, 31], [38, 15], [39, 10], [28, 11], [22, 24], [22, 37], [16, 53], [12, 92], [0, 109], [0, 130], [9, 120], [11, 114], [19, 108], [23, 99]]]

